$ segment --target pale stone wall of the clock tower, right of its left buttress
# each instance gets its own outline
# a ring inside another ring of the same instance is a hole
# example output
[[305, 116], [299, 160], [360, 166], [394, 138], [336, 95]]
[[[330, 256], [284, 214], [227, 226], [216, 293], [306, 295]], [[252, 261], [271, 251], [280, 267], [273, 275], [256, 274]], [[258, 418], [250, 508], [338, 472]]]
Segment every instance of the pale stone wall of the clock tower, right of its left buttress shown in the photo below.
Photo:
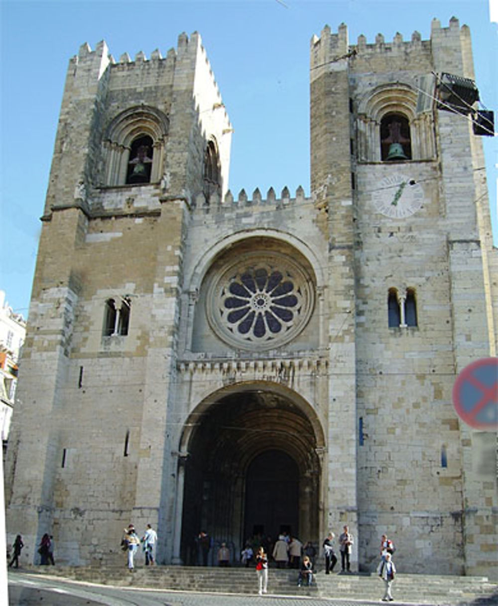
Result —
[[[473, 78], [468, 28], [460, 30], [456, 19], [449, 28], [434, 21], [430, 45], [416, 33], [406, 43], [397, 35], [392, 44], [378, 36], [367, 45], [361, 37], [356, 52], [350, 59], [355, 107], [368, 107], [369, 89], [402, 82], [419, 93], [419, 111], [424, 73]], [[496, 478], [475, 473], [479, 436], [459, 421], [451, 399], [457, 373], [496, 352], [482, 147], [465, 119], [441, 111], [435, 117], [434, 153], [414, 156], [425, 162], [356, 165], [361, 560], [366, 568], [375, 564], [378, 537], [387, 531], [398, 544], [396, 560], [412, 570], [424, 570], [430, 558], [444, 573], [493, 574], [496, 535], [488, 533]], [[365, 156], [371, 143], [368, 136], [359, 140]], [[382, 178], [396, 171], [424, 191], [422, 207], [402, 220], [375, 207]], [[418, 327], [388, 328], [389, 288], [414, 289]]]

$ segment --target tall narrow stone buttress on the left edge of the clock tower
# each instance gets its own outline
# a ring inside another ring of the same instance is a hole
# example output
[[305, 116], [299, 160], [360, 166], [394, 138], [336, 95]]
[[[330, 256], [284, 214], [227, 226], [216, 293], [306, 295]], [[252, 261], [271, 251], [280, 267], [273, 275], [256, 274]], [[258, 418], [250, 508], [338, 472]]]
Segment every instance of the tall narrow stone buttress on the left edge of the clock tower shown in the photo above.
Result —
[[329, 414], [327, 470], [324, 476], [323, 534], [337, 535], [344, 524], [355, 536], [352, 566], [358, 566], [356, 474], [356, 339], [353, 184], [349, 99], [349, 43], [346, 25], [337, 35], [325, 27], [311, 42], [311, 181], [329, 241], [327, 264], [329, 311]]

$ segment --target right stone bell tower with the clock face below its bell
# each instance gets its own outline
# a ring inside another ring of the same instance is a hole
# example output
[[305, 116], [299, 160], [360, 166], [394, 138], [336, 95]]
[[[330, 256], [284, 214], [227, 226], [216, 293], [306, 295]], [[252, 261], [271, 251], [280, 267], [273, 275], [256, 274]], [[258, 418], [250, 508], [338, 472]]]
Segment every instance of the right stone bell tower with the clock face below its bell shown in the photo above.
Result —
[[[445, 78], [469, 91], [453, 111]], [[433, 545], [446, 545], [431, 554], [439, 570], [493, 574], [496, 535], [477, 535], [496, 522], [496, 473], [479, 467], [496, 435], [468, 427], [452, 403], [460, 371], [496, 356], [497, 339], [482, 143], [468, 119], [478, 98], [470, 32], [435, 19], [429, 41], [413, 32], [350, 45], [346, 25], [325, 27], [311, 41], [310, 82], [312, 194], [329, 241], [330, 414], [341, 428], [329, 439], [349, 451], [330, 468], [341, 494], [330, 519], [354, 528], [357, 515], [366, 570], [379, 525], [411, 545], [413, 570], [424, 556], [409, 536], [431, 526]]]

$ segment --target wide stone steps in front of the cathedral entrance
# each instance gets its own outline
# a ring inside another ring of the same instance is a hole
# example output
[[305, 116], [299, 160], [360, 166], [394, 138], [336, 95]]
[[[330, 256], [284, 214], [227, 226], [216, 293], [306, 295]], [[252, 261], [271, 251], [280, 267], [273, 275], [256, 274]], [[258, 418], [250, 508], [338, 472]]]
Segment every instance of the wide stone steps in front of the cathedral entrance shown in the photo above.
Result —
[[[22, 568], [23, 572], [52, 574], [77, 581], [117, 587], [146, 587], [183, 591], [206, 591], [257, 594], [258, 581], [254, 568], [211, 568], [185, 566], [38, 566]], [[315, 575], [312, 587], [297, 587], [297, 570], [270, 568], [268, 593], [319, 598], [356, 599], [378, 602], [384, 584], [376, 574]], [[393, 583], [393, 597], [414, 604], [448, 604], [491, 606], [498, 604], [498, 583], [486, 577], [398, 574]]]

